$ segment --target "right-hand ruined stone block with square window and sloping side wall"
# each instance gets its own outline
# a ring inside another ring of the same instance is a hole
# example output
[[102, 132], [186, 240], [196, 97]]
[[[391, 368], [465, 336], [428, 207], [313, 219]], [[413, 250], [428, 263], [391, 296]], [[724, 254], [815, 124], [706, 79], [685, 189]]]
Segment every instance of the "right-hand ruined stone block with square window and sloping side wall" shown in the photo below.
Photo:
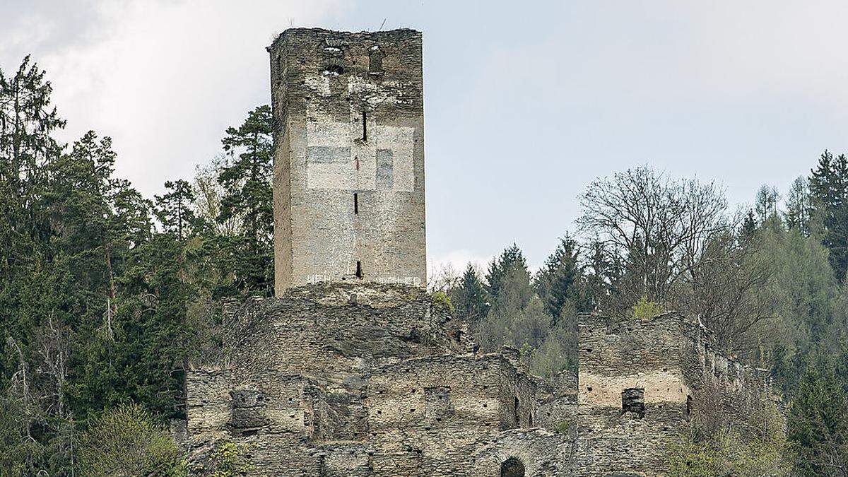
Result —
[[577, 467], [584, 475], [662, 474], [668, 444], [696, 412], [742, 424], [753, 401], [774, 399], [766, 372], [723, 356], [706, 328], [676, 313], [648, 321], [581, 317], [579, 346]]

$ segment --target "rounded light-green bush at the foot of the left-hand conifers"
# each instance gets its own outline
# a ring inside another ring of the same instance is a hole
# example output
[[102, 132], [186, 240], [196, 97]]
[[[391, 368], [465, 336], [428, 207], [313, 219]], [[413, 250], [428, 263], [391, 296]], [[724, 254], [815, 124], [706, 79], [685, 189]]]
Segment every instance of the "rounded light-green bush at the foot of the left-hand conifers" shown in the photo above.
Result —
[[180, 449], [137, 404], [122, 404], [92, 419], [81, 436], [79, 455], [83, 475], [187, 475]]

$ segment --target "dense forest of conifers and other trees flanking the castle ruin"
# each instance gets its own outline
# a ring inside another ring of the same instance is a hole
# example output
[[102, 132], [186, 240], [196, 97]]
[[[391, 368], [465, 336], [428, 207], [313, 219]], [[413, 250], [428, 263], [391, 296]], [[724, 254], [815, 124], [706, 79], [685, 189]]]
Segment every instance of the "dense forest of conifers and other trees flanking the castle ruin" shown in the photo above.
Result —
[[[165, 430], [184, 370], [220, 356], [222, 300], [272, 293], [271, 109], [151, 199], [114, 176], [109, 137], [56, 140], [51, 91], [29, 58], [0, 70], [0, 475], [186, 474]], [[669, 450], [675, 472], [846, 475], [848, 159], [806, 160], [738, 210], [649, 167], [600, 178], [538, 271], [512, 244], [430, 288], [483, 351], [515, 346], [549, 378], [577, 368], [578, 313], [697, 316], [771, 370], [789, 417], [785, 435], [703, 423]], [[219, 464], [243, 469], [237, 449]]]

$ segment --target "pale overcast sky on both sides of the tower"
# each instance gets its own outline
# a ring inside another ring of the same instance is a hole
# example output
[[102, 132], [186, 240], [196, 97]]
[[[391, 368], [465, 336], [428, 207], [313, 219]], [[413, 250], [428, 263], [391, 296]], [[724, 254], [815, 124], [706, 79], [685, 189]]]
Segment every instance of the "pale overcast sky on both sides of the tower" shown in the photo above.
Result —
[[734, 205], [848, 141], [848, 3], [0, 0], [0, 68], [32, 53], [65, 141], [114, 139], [152, 197], [269, 101], [289, 26], [424, 32], [429, 258], [516, 242], [538, 267], [595, 177], [648, 164]]

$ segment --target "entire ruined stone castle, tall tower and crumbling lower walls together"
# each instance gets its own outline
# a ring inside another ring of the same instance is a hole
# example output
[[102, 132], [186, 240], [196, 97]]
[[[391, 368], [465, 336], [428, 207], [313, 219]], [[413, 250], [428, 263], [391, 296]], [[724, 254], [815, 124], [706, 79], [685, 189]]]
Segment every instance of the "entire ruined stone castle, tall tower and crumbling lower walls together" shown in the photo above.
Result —
[[767, 374], [696, 320], [579, 318], [579, 373], [476, 351], [427, 294], [421, 33], [292, 29], [268, 48], [276, 298], [226, 311], [187, 373], [192, 462], [247, 444], [255, 475], [658, 475], [699, 413], [745, 420]]

